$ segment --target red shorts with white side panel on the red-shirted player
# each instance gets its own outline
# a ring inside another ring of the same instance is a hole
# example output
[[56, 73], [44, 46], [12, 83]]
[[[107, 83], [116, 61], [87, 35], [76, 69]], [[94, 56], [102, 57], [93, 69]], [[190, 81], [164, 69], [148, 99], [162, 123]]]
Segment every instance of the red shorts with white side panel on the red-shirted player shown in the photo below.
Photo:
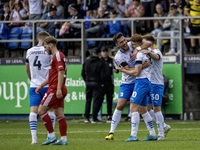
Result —
[[48, 91], [45, 93], [41, 105], [50, 107], [53, 109], [56, 109], [58, 107], [64, 108], [64, 98], [67, 95], [67, 88], [62, 89], [62, 95], [63, 97], [61, 99], [58, 99], [56, 97], [56, 90], [54, 89], [48, 89]]

